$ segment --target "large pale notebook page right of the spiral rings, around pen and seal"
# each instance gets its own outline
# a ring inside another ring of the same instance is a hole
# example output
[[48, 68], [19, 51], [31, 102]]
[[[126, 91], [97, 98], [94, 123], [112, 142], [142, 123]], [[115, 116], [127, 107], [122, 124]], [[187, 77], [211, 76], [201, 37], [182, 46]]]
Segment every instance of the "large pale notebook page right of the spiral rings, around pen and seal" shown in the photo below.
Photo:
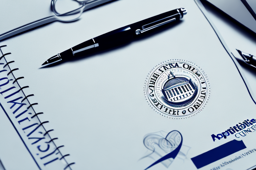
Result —
[[[180, 7], [187, 8], [188, 14], [170, 29], [112, 51], [39, 69], [50, 56], [71, 46]], [[144, 136], [153, 132], [164, 135], [172, 130], [182, 134], [182, 148], [189, 149], [183, 159], [174, 159], [170, 167], [197, 169], [192, 157], [237, 139], [230, 135], [213, 141], [212, 134], [254, 118], [255, 104], [237, 68], [194, 1], [122, 0], [86, 14], [77, 22], [53, 23], [1, 42], [8, 44], [37, 98], [37, 107], [44, 112], [40, 119], [50, 122], [46, 125], [54, 129], [50, 134], [58, 136], [56, 143], [65, 145], [64, 151], [70, 154], [67, 159], [75, 162], [72, 169], [145, 169], [154, 161], [143, 158], [148, 151]], [[196, 63], [209, 79], [209, 102], [193, 117], [164, 117], [145, 100], [147, 75], [168, 59]], [[242, 138], [247, 150], [254, 147], [253, 139], [253, 133]], [[253, 159], [251, 154], [243, 164], [239, 160], [229, 168], [248, 169], [254, 166]], [[224, 161], [225, 158], [221, 160]], [[217, 165], [212, 163], [201, 169]], [[166, 167], [159, 163], [151, 169]]]

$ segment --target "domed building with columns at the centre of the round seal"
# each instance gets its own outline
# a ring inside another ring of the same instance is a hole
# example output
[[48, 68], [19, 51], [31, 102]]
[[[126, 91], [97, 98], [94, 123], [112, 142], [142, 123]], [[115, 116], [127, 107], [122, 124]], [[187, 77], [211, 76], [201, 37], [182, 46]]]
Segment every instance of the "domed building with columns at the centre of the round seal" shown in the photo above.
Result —
[[[172, 75], [171, 79], [170, 75]], [[164, 97], [162, 99], [166, 104], [186, 106], [195, 98], [197, 92], [197, 85], [191, 79], [176, 77], [170, 71], [168, 79], [163, 83], [162, 93]]]

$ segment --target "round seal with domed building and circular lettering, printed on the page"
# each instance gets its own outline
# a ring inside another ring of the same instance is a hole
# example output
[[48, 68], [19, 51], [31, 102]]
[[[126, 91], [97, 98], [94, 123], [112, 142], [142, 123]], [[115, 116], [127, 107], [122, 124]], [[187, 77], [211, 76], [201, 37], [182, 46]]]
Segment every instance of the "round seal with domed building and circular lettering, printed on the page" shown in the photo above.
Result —
[[189, 61], [170, 60], [152, 69], [145, 94], [157, 113], [168, 118], [188, 118], [203, 109], [210, 95], [208, 79]]

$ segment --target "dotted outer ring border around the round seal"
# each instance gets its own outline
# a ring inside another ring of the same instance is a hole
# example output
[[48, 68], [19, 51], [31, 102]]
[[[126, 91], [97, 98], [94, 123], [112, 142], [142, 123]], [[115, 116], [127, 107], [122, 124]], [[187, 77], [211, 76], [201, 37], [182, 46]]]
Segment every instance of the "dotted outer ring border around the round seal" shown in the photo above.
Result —
[[[167, 62], [171, 62], [171, 61], [174, 61], [174, 62], [182, 61], [182, 62], [187, 62], [187, 63], [190, 63], [191, 65], [196, 66], [196, 68], [200, 69], [200, 72], [203, 73], [204, 77], [206, 78], [208, 87], [209, 87], [208, 93], [207, 93], [207, 97], [206, 97], [206, 99], [205, 99], [205, 102], [204, 102], [203, 105], [200, 107], [200, 109], [199, 109], [198, 111], [196, 111], [196, 112], [190, 114], [190, 115], [187, 115], [187, 116], [186, 116], [186, 115], [184, 115], [184, 116], [179, 116], [179, 117], [167, 116], [166, 114], [159, 112], [154, 106], [152, 106], [152, 104], [151, 104], [151, 102], [149, 101], [148, 96], [147, 96], [147, 90], [146, 90], [146, 88], [147, 88], [147, 83], [148, 83], [148, 80], [149, 80], [149, 78], [150, 78], [152, 72], [155, 71], [155, 69], [156, 69], [158, 66], [160, 66], [161, 64], [164, 64], [164, 63], [167, 63]], [[164, 117], [166, 117], [166, 118], [169, 118], [169, 119], [171, 119], [171, 118], [172, 118], [172, 119], [187, 119], [187, 118], [190, 118], [190, 117], [192, 117], [192, 116], [197, 115], [199, 112], [201, 112], [201, 111], [204, 109], [205, 105], [207, 105], [207, 103], [208, 103], [208, 101], [209, 101], [209, 99], [210, 99], [210, 95], [211, 95], [211, 87], [210, 87], [209, 79], [208, 79], [207, 75], [205, 74], [205, 72], [202, 70], [202, 68], [200, 68], [200, 66], [196, 65], [195, 63], [193, 63], [193, 62], [191, 62], [191, 61], [182, 60], [182, 59], [170, 59], [170, 60], [167, 60], [167, 61], [163, 61], [163, 62], [159, 63], [158, 65], [155, 65], [155, 66], [150, 70], [150, 72], [148, 73], [148, 75], [147, 75], [147, 77], [146, 77], [146, 80], [145, 80], [145, 83], [144, 83], [144, 89], [143, 89], [143, 90], [144, 90], [144, 96], [145, 96], [145, 98], [146, 98], [146, 101], [147, 101], [148, 105], [149, 105], [156, 113], [158, 113], [159, 115], [162, 115], [162, 116], [164, 116]]]

